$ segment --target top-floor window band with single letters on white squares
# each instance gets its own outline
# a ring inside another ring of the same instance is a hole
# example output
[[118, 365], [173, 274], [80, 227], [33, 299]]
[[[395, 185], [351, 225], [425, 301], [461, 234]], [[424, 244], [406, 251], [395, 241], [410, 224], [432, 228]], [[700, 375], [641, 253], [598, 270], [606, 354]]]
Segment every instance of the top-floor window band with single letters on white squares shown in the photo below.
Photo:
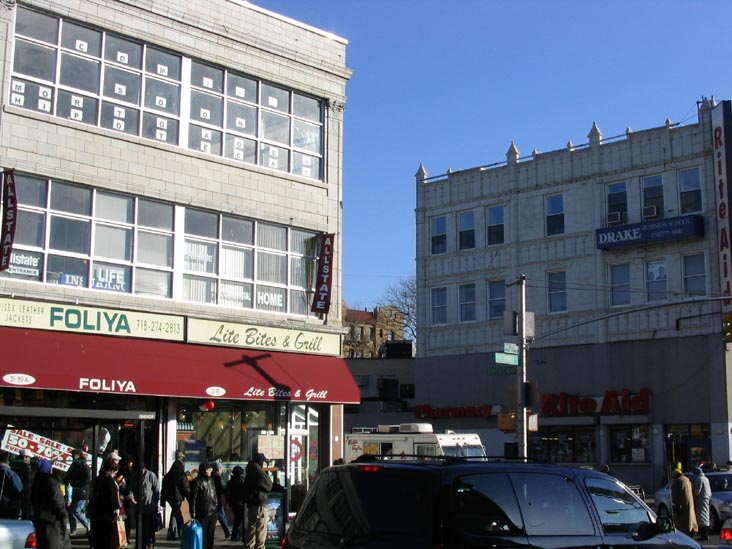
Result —
[[310, 179], [323, 177], [322, 100], [20, 6], [9, 103]]

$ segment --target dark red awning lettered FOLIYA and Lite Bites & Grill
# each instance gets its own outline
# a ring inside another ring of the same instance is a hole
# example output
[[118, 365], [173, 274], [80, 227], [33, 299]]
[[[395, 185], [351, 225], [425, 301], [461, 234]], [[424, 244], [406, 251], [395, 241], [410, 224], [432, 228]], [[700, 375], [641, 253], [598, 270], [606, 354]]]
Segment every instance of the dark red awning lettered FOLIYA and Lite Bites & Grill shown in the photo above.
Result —
[[0, 386], [357, 404], [339, 357], [0, 327]]

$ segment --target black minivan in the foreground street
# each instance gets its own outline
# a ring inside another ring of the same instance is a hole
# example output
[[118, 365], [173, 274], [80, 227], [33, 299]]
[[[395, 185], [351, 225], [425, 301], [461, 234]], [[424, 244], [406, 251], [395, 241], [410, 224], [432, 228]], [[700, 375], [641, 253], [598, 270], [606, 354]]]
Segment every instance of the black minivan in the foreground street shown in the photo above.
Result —
[[511, 461], [369, 458], [324, 469], [286, 549], [699, 549], [623, 483]]

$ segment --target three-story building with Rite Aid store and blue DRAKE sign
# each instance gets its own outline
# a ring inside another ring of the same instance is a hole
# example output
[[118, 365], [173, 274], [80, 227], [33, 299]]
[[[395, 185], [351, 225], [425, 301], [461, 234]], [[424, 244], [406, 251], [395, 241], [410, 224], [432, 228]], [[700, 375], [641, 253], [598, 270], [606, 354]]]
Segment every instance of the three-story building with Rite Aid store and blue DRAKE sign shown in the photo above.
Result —
[[503, 317], [525, 275], [530, 457], [608, 463], [646, 491], [667, 462], [730, 459], [729, 222], [713, 143], [724, 105], [612, 139], [593, 124], [587, 145], [525, 158], [512, 143], [500, 166], [420, 166], [416, 401], [437, 425], [480, 432], [489, 453], [515, 441], [498, 420], [516, 409], [516, 366], [495, 353], [517, 341]]

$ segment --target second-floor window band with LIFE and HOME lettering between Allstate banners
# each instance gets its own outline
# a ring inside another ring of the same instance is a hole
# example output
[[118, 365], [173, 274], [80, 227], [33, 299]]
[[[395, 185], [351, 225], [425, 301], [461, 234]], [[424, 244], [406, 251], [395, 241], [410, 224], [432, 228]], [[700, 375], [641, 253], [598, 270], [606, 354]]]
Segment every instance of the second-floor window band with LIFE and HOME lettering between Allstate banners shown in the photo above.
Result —
[[[316, 316], [315, 232], [27, 174], [15, 179], [15, 246], [0, 276]], [[184, 248], [179, 264], [176, 242]]]

